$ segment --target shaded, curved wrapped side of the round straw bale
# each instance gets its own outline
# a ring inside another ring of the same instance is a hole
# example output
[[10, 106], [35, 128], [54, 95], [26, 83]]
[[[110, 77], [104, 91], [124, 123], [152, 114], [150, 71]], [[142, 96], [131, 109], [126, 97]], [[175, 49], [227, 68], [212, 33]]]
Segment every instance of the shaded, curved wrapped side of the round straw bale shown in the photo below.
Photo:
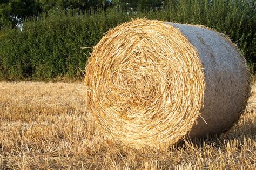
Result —
[[245, 59], [230, 40], [218, 32], [193, 25], [169, 24], [196, 47], [204, 67], [206, 90], [200, 112], [203, 118], [198, 118], [190, 137], [229, 130], [244, 111], [250, 92], [250, 73]]

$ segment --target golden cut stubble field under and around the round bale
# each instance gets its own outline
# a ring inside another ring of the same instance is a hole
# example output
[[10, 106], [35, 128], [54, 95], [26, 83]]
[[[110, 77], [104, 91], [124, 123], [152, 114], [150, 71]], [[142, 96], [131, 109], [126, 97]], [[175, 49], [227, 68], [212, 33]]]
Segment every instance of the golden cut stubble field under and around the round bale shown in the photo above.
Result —
[[226, 134], [167, 151], [106, 140], [78, 83], [0, 83], [0, 168], [255, 169], [256, 94]]

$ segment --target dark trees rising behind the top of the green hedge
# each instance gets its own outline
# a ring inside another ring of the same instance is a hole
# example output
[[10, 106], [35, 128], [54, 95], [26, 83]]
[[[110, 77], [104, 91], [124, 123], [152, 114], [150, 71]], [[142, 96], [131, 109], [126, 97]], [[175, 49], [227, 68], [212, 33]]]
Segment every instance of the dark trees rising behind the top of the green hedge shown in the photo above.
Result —
[[84, 13], [89, 10], [106, 10], [109, 7], [123, 10], [134, 10], [138, 6], [146, 9], [158, 9], [164, 3], [165, 1], [163, 0], [1, 0], [0, 28], [7, 25], [18, 26], [26, 18], [36, 17], [42, 13], [51, 13], [56, 10]]

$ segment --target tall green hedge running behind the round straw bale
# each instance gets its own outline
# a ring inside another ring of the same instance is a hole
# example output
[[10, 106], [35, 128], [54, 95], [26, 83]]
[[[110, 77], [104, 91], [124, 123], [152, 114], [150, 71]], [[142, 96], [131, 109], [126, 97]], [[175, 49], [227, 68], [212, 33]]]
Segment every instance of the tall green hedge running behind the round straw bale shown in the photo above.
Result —
[[0, 79], [54, 80], [82, 77], [91, 47], [104, 33], [131, 18], [206, 25], [233, 39], [255, 69], [255, 3], [253, 1], [170, 1], [159, 10], [98, 10], [93, 14], [52, 13], [24, 21], [22, 31], [0, 31]]

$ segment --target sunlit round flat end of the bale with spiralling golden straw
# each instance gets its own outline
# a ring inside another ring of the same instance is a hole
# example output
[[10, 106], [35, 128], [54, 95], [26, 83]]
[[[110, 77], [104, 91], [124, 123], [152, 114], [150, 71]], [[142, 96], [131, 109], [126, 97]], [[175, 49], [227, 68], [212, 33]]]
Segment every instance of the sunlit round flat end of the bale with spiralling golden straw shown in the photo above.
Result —
[[191, 130], [204, 72], [179, 30], [138, 19], [108, 31], [86, 67], [86, 106], [104, 135], [133, 146], [169, 147]]

